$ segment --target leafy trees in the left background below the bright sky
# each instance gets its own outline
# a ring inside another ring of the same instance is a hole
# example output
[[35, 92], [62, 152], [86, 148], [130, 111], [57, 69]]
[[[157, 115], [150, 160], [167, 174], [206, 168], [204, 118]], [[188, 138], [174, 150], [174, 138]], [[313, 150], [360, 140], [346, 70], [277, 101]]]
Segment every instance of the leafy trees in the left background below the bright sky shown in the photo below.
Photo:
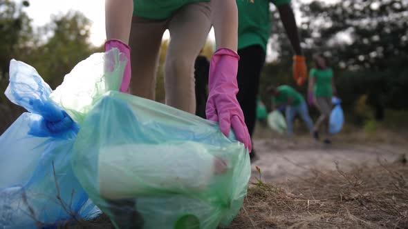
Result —
[[[30, 64], [55, 89], [78, 62], [101, 51], [89, 43], [90, 22], [83, 14], [68, 12], [53, 16], [48, 25], [33, 32], [22, 7], [12, 1], [0, 0], [0, 111], [4, 117], [0, 133], [22, 112], [3, 94], [8, 86], [10, 59]], [[50, 37], [44, 37], [44, 34]]]

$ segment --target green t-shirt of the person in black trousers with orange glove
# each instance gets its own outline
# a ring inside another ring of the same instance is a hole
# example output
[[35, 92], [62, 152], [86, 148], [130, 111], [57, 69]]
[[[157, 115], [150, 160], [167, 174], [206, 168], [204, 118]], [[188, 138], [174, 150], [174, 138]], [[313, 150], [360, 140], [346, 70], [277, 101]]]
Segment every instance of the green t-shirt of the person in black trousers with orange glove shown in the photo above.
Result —
[[269, 3], [281, 6], [290, 0], [237, 0], [238, 6], [238, 49], [261, 45], [266, 51], [270, 37]]

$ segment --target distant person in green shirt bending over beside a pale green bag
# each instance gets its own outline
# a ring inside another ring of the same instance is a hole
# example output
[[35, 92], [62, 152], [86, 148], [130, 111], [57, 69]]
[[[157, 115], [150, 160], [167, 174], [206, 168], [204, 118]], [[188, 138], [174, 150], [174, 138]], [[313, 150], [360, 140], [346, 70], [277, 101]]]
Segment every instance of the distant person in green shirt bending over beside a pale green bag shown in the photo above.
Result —
[[310, 119], [308, 106], [302, 97], [302, 94], [297, 92], [290, 86], [282, 85], [277, 88], [270, 86], [267, 92], [272, 95], [272, 110], [275, 110], [278, 106], [286, 106], [286, 126], [288, 129], [288, 135], [293, 135], [293, 120], [296, 115], [299, 115], [309, 132], [313, 132], [313, 121]]

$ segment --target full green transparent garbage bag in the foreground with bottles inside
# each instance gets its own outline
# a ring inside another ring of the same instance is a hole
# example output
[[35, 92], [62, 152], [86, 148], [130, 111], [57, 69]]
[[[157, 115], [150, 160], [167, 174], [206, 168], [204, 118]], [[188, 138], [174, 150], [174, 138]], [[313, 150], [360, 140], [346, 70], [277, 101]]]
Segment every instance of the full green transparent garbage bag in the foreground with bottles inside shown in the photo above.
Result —
[[242, 206], [250, 159], [217, 123], [111, 91], [82, 121], [73, 170], [116, 228], [216, 228]]

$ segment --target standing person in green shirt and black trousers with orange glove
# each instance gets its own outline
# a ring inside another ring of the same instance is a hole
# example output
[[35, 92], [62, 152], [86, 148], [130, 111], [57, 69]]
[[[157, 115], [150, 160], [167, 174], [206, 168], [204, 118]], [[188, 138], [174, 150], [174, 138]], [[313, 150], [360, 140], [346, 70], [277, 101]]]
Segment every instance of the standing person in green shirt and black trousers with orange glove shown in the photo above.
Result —
[[[292, 44], [293, 77], [298, 85], [306, 79], [306, 63], [300, 47], [299, 35], [290, 0], [237, 0], [238, 23], [238, 86], [237, 99], [245, 116], [245, 123], [252, 136], [256, 123], [257, 94], [259, 78], [265, 63], [266, 45], [270, 37], [270, 3], [275, 4], [284, 24], [288, 39]], [[277, 22], [275, 22], [277, 23]], [[254, 150], [251, 159], [254, 157]]]

